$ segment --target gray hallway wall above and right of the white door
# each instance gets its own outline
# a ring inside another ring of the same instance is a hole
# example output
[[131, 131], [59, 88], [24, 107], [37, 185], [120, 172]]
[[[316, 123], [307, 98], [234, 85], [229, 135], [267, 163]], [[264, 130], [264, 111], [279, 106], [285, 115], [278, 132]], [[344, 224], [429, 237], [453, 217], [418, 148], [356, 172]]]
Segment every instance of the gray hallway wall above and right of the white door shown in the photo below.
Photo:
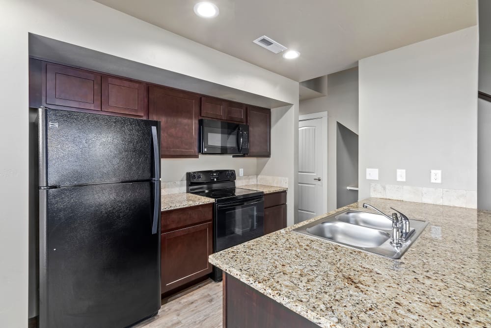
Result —
[[327, 96], [300, 101], [299, 114], [327, 111], [327, 210], [337, 209], [336, 122], [358, 133], [358, 67], [327, 75]]

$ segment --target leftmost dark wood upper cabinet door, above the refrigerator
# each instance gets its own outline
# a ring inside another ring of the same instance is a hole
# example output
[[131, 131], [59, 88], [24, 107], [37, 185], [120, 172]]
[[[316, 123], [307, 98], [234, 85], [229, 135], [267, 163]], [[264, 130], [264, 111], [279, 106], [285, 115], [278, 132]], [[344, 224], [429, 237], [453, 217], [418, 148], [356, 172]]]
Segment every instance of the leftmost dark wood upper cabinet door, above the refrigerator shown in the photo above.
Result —
[[46, 104], [101, 110], [101, 74], [46, 64]]

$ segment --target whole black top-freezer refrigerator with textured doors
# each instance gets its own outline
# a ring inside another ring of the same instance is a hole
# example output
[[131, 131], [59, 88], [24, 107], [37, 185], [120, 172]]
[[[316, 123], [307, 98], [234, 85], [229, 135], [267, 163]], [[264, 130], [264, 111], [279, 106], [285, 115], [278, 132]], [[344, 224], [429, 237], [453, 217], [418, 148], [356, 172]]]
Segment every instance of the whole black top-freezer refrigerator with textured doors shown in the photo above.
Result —
[[40, 108], [39, 327], [127, 327], [160, 294], [160, 122]]

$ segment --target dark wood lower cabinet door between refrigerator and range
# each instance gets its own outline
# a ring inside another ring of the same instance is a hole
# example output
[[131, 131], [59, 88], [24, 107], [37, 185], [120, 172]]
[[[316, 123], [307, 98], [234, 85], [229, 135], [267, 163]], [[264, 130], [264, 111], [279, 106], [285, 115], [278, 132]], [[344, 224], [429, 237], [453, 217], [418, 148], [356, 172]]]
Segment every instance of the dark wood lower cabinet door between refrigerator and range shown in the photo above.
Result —
[[212, 271], [212, 222], [161, 235], [161, 281], [164, 293]]

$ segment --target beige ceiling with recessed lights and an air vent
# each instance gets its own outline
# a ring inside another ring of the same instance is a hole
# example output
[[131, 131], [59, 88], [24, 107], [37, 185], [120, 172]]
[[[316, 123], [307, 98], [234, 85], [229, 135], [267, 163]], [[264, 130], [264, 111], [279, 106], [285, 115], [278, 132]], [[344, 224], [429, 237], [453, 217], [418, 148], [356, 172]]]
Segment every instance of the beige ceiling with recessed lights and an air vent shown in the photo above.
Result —
[[[211, 0], [213, 19], [194, 14], [200, 0], [97, 1], [295, 81], [477, 24], [476, 0]], [[300, 58], [252, 43], [262, 35]]]

